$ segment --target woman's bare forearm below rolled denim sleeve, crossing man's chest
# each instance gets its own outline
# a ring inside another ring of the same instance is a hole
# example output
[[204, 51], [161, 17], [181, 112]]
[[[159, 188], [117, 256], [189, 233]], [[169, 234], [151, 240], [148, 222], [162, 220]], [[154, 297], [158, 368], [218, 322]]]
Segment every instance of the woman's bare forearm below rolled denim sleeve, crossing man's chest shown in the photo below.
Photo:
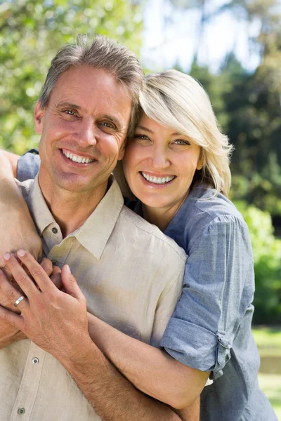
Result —
[[139, 390], [177, 409], [192, 405], [200, 396], [209, 373], [184, 366], [166, 352], [119, 332], [93, 314], [88, 314], [88, 321], [91, 339]]

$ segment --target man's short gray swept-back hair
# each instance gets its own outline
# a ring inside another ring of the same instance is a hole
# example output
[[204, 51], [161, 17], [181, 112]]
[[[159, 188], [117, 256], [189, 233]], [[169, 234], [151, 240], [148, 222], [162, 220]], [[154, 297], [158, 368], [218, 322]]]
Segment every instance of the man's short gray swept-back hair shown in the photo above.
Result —
[[107, 36], [97, 35], [90, 43], [88, 36], [78, 35], [76, 44], [60, 48], [51, 62], [39, 103], [46, 108], [61, 74], [72, 66], [91, 66], [104, 69], [124, 85], [132, 101], [127, 135], [133, 135], [138, 119], [138, 97], [143, 87], [143, 69], [136, 54]]

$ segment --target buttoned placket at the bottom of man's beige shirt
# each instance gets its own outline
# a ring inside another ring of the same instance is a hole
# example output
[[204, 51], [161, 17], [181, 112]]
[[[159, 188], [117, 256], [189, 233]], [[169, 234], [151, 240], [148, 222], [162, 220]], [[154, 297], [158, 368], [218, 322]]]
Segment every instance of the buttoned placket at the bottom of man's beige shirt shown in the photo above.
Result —
[[17, 399], [13, 406], [10, 421], [30, 420], [32, 408], [39, 389], [41, 373], [44, 366], [46, 352], [33, 342], [30, 343], [30, 351], [25, 363], [25, 370], [20, 382]]

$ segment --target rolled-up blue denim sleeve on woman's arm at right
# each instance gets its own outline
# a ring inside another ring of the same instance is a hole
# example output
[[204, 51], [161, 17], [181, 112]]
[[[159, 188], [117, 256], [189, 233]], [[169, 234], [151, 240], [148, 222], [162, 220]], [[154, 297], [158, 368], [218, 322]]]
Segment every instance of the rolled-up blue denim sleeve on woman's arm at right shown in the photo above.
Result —
[[233, 215], [214, 218], [190, 250], [183, 293], [161, 346], [186, 366], [220, 377], [253, 296], [248, 227]]

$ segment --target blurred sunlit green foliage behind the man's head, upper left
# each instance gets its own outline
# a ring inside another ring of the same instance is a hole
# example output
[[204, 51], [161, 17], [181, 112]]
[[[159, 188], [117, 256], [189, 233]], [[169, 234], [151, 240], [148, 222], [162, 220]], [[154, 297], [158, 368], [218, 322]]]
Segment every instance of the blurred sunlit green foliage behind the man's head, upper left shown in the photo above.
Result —
[[141, 7], [129, 0], [0, 0], [0, 147], [37, 145], [34, 103], [58, 48], [77, 34], [104, 34], [136, 53]]

